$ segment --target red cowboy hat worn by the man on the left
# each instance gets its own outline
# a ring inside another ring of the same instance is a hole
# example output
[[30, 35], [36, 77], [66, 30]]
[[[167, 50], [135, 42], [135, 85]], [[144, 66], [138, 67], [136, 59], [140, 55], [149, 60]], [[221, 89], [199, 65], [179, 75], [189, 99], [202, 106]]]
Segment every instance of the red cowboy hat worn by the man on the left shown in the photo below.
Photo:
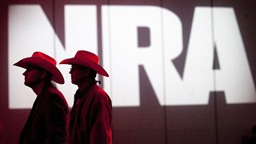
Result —
[[34, 54], [32, 54], [32, 57], [23, 58], [22, 60], [14, 63], [14, 66], [19, 66], [24, 69], [26, 69], [29, 65], [38, 66], [44, 70], [47, 70], [48, 72], [50, 72], [50, 74], [53, 74], [52, 80], [54, 82], [57, 82], [59, 84], [64, 83], [62, 73], [56, 67], [56, 61], [49, 55], [36, 51], [34, 52]]

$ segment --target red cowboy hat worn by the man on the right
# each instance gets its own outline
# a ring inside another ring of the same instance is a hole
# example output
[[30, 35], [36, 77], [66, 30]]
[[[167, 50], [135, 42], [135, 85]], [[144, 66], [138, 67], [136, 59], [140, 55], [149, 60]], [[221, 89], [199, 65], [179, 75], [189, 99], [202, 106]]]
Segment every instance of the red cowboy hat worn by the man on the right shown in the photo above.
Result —
[[98, 62], [99, 58], [96, 54], [86, 50], [78, 50], [77, 54], [74, 55], [74, 58], [64, 59], [60, 64], [86, 66], [95, 70], [98, 74], [109, 77], [109, 74], [107, 74], [106, 70], [104, 70]]

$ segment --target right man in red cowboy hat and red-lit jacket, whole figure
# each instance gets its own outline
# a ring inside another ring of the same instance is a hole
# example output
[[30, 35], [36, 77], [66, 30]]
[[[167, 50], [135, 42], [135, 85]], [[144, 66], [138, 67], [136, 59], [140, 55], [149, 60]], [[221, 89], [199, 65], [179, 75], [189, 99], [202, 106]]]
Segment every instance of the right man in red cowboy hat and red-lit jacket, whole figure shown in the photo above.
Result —
[[70, 111], [70, 144], [112, 143], [112, 105], [109, 96], [96, 85], [96, 74], [108, 77], [97, 55], [79, 50], [60, 64], [72, 65], [71, 82], [78, 86]]

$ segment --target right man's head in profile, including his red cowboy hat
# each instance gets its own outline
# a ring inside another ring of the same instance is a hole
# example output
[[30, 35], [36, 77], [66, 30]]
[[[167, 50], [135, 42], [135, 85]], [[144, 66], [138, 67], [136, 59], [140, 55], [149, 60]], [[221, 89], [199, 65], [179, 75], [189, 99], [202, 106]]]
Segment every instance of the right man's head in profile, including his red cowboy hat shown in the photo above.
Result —
[[86, 50], [78, 50], [74, 58], [64, 59], [60, 64], [71, 65], [71, 82], [78, 85], [85, 80], [94, 81], [96, 74], [109, 76], [98, 62], [99, 58], [96, 54]]

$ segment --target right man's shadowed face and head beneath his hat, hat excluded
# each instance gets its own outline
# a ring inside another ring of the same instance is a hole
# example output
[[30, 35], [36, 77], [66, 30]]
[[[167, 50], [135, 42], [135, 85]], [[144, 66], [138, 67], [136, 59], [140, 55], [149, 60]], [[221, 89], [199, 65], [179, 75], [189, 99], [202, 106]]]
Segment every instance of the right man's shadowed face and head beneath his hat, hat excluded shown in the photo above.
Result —
[[96, 78], [96, 71], [86, 66], [72, 65], [70, 68], [71, 82], [79, 85], [82, 82], [94, 82]]

